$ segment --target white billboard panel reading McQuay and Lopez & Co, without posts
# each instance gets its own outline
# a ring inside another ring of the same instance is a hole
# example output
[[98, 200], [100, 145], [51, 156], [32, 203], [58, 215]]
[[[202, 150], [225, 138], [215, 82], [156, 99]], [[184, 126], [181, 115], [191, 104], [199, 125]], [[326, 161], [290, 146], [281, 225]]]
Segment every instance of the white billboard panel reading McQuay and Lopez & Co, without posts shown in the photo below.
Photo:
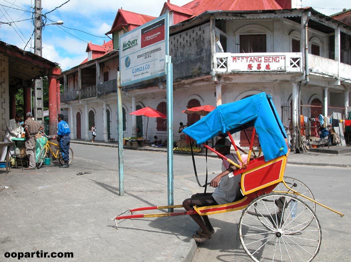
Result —
[[166, 74], [168, 14], [164, 14], [120, 37], [121, 85]]

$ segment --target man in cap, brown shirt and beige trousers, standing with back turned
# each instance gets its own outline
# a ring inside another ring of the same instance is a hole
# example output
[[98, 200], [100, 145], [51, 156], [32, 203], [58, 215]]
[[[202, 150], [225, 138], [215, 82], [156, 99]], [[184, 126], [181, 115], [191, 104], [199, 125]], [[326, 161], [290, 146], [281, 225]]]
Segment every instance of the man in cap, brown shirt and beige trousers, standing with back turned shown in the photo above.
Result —
[[26, 114], [27, 120], [25, 121], [25, 132], [26, 132], [26, 154], [29, 157], [29, 166], [26, 170], [33, 170], [36, 168], [36, 142], [37, 134], [40, 130], [44, 129], [44, 126], [33, 119], [32, 112]]

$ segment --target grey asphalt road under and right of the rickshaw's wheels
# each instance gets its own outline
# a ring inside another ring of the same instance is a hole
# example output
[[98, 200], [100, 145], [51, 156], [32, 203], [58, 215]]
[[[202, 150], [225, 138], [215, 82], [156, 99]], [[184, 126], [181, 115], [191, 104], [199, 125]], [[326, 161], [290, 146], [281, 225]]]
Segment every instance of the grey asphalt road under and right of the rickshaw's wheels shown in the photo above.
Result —
[[[310, 167], [287, 165], [285, 175], [293, 176], [311, 189], [316, 200], [344, 213], [343, 217], [317, 206], [316, 215], [322, 229], [319, 253], [313, 261], [348, 262], [351, 234], [351, 196], [349, 193], [349, 168]], [[211, 216], [216, 233], [199, 248], [193, 262], [252, 261], [241, 246], [237, 224], [241, 211]], [[297, 261], [297, 260], [293, 260]]]

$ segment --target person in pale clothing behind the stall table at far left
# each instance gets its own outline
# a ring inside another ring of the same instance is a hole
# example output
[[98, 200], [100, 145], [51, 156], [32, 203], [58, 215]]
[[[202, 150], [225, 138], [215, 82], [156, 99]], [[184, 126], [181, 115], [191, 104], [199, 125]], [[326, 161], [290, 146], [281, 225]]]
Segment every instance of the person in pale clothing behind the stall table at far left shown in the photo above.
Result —
[[[16, 114], [15, 118], [10, 119], [6, 124], [6, 133], [4, 137], [4, 142], [12, 142], [12, 138], [21, 137], [21, 133], [23, 132], [23, 127], [21, 125], [22, 115]], [[9, 148], [8, 148], [9, 147]], [[6, 160], [6, 154], [10, 150], [11, 154], [15, 153], [14, 146], [4, 146], [3, 153], [1, 155], [0, 161], [4, 162]]]

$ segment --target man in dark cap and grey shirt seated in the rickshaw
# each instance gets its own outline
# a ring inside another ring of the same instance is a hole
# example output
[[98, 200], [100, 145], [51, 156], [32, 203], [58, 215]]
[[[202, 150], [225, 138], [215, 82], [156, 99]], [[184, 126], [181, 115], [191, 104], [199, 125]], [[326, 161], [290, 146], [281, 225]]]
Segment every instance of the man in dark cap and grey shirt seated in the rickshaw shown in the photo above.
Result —
[[[227, 138], [220, 138], [214, 148], [230, 160], [239, 164], [236, 154], [230, 153], [231, 142]], [[220, 156], [218, 156], [221, 158]], [[245, 159], [246, 158], [246, 159]], [[242, 155], [243, 161], [247, 160], [247, 155]], [[253, 156], [250, 157], [253, 159]], [[230, 203], [243, 197], [240, 192], [241, 175], [229, 177], [229, 174], [238, 169], [227, 160], [222, 160], [222, 172], [211, 180], [210, 185], [215, 187], [213, 193], [196, 193], [183, 201], [186, 210], [194, 210], [193, 206], [207, 206]], [[200, 226], [193, 238], [197, 242], [203, 242], [212, 237], [214, 229], [207, 215], [191, 214], [191, 218]]]

